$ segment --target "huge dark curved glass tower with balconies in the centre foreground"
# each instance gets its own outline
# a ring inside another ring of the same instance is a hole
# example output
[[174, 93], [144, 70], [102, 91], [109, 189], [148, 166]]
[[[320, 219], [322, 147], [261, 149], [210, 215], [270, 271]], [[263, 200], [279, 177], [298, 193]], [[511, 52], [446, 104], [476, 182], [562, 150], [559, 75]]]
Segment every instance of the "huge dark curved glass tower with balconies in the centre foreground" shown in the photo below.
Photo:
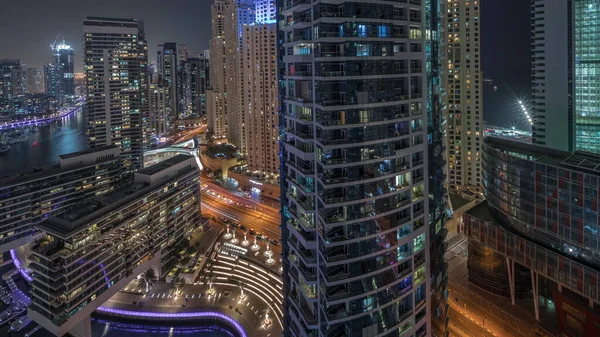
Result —
[[430, 336], [425, 3], [278, 11], [285, 336]]

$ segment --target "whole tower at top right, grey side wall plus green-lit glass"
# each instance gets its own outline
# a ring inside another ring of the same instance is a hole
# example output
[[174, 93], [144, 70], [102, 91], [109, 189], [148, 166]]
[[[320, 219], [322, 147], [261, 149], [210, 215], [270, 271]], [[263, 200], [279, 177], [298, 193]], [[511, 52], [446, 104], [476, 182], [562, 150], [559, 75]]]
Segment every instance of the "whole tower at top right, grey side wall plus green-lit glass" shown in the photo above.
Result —
[[532, 0], [533, 142], [600, 153], [600, 3]]

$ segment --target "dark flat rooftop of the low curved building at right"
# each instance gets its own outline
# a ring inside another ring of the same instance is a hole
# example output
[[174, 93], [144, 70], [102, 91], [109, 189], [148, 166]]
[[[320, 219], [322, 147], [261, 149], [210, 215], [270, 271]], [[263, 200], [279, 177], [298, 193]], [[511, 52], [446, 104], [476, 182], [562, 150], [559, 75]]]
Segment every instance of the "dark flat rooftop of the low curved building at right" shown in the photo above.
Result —
[[483, 142], [487, 146], [530, 161], [600, 175], [600, 156], [596, 154], [579, 151], [571, 153], [493, 136], [485, 137]]

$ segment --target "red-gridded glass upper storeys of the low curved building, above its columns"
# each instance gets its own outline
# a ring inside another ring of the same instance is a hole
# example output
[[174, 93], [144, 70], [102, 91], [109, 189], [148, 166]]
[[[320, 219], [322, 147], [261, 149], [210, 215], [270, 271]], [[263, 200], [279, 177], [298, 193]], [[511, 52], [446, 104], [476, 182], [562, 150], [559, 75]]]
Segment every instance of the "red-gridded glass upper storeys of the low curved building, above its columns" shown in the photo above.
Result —
[[600, 159], [491, 137], [483, 151], [487, 201], [467, 212], [465, 226], [469, 245], [489, 250], [474, 252], [469, 271], [499, 253], [598, 303]]

